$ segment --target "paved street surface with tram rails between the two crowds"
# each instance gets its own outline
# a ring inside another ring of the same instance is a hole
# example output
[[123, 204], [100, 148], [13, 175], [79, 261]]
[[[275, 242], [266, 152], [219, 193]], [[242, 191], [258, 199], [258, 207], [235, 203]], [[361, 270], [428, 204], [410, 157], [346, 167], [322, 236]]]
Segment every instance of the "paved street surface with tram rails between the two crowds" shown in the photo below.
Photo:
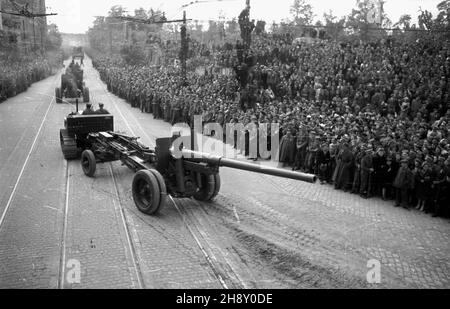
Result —
[[[170, 136], [108, 93], [90, 60], [85, 76], [117, 131], [149, 146]], [[139, 213], [128, 168], [102, 164], [91, 179], [64, 160], [59, 129], [74, 107], [55, 103], [59, 83], [0, 104], [0, 288], [450, 287], [448, 220], [330, 186], [223, 169], [214, 203]], [[370, 260], [380, 284], [367, 282]]]

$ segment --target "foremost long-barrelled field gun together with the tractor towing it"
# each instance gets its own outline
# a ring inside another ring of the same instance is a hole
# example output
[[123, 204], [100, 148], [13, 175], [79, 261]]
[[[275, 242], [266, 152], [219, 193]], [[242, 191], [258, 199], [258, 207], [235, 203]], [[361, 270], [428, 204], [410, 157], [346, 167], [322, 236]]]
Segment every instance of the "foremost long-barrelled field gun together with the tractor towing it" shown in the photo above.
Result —
[[121, 161], [136, 174], [132, 194], [137, 208], [154, 215], [164, 207], [167, 195], [194, 198], [208, 202], [220, 191], [220, 167], [246, 170], [306, 182], [315, 182], [314, 175], [262, 167], [237, 160], [202, 154], [182, 148], [181, 158], [175, 156], [173, 142], [180, 137], [156, 140], [150, 149], [130, 137], [113, 132], [112, 115], [81, 116], [71, 114], [61, 130], [61, 147], [68, 160], [81, 154], [81, 166], [88, 177], [94, 177], [98, 163]]

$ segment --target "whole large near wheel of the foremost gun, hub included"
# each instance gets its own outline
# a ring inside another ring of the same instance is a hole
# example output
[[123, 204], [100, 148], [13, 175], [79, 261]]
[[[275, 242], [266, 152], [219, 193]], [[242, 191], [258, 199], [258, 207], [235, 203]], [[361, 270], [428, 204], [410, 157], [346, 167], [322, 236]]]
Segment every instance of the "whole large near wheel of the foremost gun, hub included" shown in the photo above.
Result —
[[162, 197], [166, 196], [166, 193], [162, 191], [165, 185], [162, 187], [158, 178], [155, 176], [155, 171], [149, 170], [142, 170], [134, 175], [133, 200], [139, 211], [144, 214], [155, 215], [165, 202], [162, 200]]

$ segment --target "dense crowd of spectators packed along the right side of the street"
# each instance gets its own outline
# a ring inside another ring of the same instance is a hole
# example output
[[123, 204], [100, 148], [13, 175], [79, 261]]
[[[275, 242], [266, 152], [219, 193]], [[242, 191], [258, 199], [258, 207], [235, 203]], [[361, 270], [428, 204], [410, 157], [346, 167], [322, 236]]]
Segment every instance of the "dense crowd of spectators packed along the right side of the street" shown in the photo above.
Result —
[[187, 87], [175, 67], [104, 55], [94, 65], [110, 91], [156, 118], [278, 123], [283, 165], [363, 198], [449, 214], [450, 50], [442, 42], [296, 44], [264, 35], [248, 54], [228, 46], [214, 56], [236, 74], [190, 72]]

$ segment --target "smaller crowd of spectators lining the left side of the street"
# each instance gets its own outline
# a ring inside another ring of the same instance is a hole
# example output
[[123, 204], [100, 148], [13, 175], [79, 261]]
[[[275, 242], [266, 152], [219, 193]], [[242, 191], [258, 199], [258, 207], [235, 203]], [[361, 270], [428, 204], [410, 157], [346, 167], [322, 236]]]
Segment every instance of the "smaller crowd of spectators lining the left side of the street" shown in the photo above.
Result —
[[26, 91], [31, 84], [52, 75], [56, 63], [44, 56], [27, 56], [20, 59], [0, 58], [0, 103]]

